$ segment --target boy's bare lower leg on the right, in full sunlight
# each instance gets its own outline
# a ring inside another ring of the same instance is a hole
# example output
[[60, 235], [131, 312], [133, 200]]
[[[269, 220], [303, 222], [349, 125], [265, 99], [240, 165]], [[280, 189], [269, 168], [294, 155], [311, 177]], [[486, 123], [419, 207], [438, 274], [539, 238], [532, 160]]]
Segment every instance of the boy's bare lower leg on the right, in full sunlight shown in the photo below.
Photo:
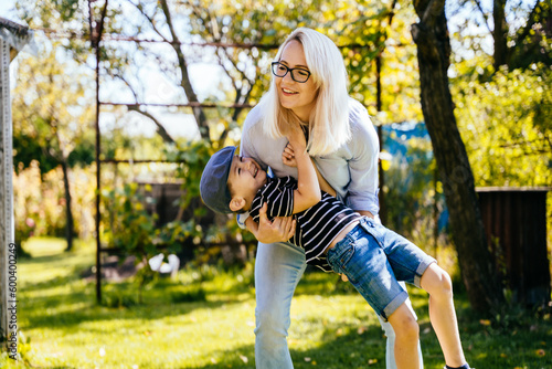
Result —
[[453, 368], [465, 365], [450, 276], [433, 263], [422, 275], [421, 286], [429, 294], [429, 319], [443, 349], [445, 362]]

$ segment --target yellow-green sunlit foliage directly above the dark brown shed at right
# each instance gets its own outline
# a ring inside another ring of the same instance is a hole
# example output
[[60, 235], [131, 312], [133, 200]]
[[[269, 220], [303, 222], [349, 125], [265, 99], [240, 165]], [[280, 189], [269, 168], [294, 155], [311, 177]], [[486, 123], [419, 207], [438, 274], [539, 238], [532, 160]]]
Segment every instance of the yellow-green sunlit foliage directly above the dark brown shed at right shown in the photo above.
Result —
[[469, 67], [456, 65], [453, 94], [476, 186], [552, 183], [552, 68], [502, 70], [479, 82]]

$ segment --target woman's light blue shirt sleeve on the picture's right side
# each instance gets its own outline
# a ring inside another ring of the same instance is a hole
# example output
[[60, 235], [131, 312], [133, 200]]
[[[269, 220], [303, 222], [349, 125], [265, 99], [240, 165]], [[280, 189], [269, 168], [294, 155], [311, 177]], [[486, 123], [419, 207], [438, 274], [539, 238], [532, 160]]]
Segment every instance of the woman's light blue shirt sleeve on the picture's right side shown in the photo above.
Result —
[[378, 133], [365, 109], [357, 112], [352, 124], [352, 139], [349, 145], [351, 159], [349, 170], [351, 180], [348, 187], [346, 204], [357, 211], [370, 211], [378, 214], [378, 160], [380, 140]]

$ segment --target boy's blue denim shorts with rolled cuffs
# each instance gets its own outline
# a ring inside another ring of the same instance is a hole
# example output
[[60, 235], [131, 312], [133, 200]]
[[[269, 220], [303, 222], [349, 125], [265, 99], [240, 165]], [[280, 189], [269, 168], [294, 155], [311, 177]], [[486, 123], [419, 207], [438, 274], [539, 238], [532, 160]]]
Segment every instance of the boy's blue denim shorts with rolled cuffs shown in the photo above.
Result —
[[327, 259], [331, 268], [347, 275], [385, 320], [408, 298], [397, 281], [420, 287], [422, 274], [436, 262], [415, 244], [370, 218], [362, 218], [328, 251]]

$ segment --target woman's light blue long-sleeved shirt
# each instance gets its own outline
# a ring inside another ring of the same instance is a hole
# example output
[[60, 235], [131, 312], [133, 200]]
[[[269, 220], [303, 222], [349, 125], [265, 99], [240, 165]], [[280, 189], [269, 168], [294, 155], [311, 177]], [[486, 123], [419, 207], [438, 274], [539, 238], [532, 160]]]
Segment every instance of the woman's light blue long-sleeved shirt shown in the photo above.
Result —
[[[270, 167], [276, 177], [291, 176], [297, 179], [297, 168], [288, 167], [282, 161], [287, 138], [274, 139], [265, 135], [262, 114], [262, 107], [257, 105], [245, 118], [240, 155], [255, 159], [265, 170]], [[380, 210], [380, 141], [367, 109], [352, 98], [349, 99], [349, 123], [351, 139], [330, 155], [314, 157], [315, 164], [346, 205], [376, 215]]]

